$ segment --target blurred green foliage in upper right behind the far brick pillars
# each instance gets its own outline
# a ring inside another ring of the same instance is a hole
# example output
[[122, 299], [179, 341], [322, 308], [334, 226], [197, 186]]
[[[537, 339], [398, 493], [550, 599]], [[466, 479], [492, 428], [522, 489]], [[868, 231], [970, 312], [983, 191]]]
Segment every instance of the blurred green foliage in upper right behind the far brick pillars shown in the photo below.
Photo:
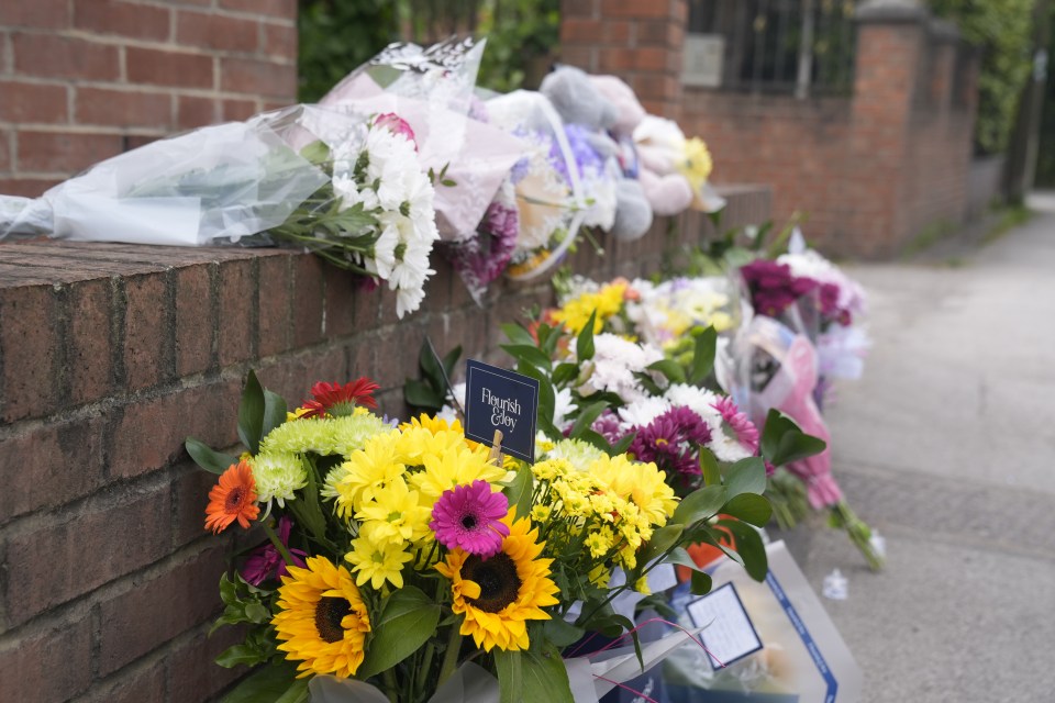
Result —
[[981, 49], [978, 77], [978, 150], [1007, 148], [1030, 75], [1034, 0], [930, 0], [937, 16], [954, 21], [964, 38]]

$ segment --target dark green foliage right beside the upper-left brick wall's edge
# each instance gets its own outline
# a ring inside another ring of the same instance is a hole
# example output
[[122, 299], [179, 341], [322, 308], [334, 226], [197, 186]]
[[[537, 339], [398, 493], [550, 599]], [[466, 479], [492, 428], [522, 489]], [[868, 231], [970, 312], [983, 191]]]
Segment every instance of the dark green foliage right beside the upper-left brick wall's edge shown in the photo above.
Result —
[[396, 3], [299, 0], [298, 98], [315, 102], [354, 68], [398, 38]]

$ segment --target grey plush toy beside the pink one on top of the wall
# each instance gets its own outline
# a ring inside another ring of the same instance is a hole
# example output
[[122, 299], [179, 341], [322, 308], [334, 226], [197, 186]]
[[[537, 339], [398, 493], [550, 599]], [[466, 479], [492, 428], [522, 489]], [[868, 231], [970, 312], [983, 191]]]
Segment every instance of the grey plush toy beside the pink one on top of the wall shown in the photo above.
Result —
[[[643, 236], [652, 226], [652, 207], [641, 182], [628, 178], [617, 159], [619, 144], [608, 135], [618, 123], [615, 105], [598, 89], [585, 71], [573, 66], [560, 66], [542, 81], [540, 88], [557, 113], [568, 125], [566, 134], [571, 152], [588, 181], [595, 207], [586, 224], [611, 232], [618, 239], [632, 241]], [[581, 146], [601, 159], [601, 165], [589, 164]], [[614, 208], [606, 207], [613, 199]]]

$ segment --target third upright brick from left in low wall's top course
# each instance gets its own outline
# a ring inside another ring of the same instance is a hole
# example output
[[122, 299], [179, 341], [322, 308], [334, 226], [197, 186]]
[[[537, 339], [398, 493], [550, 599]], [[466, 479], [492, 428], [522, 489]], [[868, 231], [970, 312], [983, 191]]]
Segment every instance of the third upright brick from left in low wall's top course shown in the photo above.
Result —
[[166, 311], [171, 302], [165, 277], [156, 274], [124, 281], [124, 370], [130, 389], [167, 381], [173, 375], [173, 331]]

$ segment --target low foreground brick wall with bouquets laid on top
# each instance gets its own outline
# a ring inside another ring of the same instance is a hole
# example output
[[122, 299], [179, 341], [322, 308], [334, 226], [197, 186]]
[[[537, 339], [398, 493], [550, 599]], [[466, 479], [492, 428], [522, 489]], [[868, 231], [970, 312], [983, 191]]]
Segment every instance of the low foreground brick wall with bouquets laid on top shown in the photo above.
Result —
[[[728, 197], [724, 225], [768, 216], [765, 190]], [[675, 245], [713, 234], [682, 224]], [[655, 271], [666, 228], [603, 242], [603, 258], [582, 244], [571, 264]], [[291, 403], [368, 375], [406, 416], [424, 335], [504, 362], [499, 324], [551, 301], [546, 282], [507, 283], [480, 309], [435, 268], [423, 309], [397, 322], [391, 293], [289, 250], [0, 245], [0, 699], [204, 701], [244, 673], [212, 662], [232, 635], [206, 633], [248, 539], [204, 532], [214, 477], [184, 439], [237, 442], [248, 369]]]

